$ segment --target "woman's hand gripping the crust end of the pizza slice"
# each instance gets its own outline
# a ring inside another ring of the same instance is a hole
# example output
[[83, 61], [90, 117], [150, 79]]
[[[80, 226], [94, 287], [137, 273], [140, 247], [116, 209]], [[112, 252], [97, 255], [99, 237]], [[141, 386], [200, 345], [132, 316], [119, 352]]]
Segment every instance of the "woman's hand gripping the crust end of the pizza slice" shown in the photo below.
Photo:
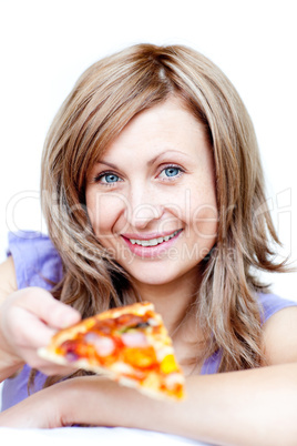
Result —
[[12, 293], [0, 307], [0, 377], [8, 377], [23, 363], [47, 375], [70, 373], [66, 367], [40, 358], [37, 349], [45, 346], [57, 330], [80, 318], [79, 312], [42, 288], [28, 287]]

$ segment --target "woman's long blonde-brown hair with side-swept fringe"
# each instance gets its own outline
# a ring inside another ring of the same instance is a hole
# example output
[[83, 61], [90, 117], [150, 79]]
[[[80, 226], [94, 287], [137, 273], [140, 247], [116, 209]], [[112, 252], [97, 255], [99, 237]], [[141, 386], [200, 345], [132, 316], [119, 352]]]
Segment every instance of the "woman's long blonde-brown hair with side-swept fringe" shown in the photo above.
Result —
[[136, 44], [106, 57], [82, 74], [62, 104], [45, 141], [41, 180], [49, 234], [64, 265], [53, 293], [83, 317], [141, 298], [93, 234], [85, 178], [137, 113], [172, 94], [204, 123], [216, 171], [218, 235], [203, 261], [195, 301], [203, 359], [221, 349], [219, 372], [256, 367], [264, 361], [256, 293], [266, 288], [257, 270], [284, 271], [270, 249], [279, 241], [265, 207], [248, 113], [224, 73], [190, 48]]

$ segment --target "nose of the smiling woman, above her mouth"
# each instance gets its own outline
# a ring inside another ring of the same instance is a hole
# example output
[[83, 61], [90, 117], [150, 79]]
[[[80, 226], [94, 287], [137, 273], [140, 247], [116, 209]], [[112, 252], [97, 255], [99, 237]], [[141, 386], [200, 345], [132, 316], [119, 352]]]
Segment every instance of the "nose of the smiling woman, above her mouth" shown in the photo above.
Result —
[[151, 222], [162, 216], [164, 206], [161, 201], [160, 194], [136, 187], [131, 193], [125, 210], [127, 223], [136, 230], [145, 229]]

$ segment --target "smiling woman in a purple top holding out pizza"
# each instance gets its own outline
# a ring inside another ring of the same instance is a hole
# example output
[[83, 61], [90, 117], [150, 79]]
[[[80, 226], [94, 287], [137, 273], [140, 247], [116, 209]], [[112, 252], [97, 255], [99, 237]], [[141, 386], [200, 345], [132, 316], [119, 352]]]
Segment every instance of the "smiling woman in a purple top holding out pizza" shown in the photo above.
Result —
[[[2, 265], [2, 378], [27, 365], [4, 384], [1, 425], [293, 444], [297, 310], [257, 276], [286, 267], [273, 262], [269, 240], [278, 239], [263, 207], [253, 124], [221, 70], [178, 45], [135, 45], [95, 63], [50, 129], [41, 189], [51, 241], [12, 236]], [[18, 262], [20, 252], [30, 259]], [[186, 375], [184, 403], [37, 356], [54, 330], [135, 301], [153, 302], [164, 318]], [[28, 379], [32, 391], [48, 388], [19, 403]]]

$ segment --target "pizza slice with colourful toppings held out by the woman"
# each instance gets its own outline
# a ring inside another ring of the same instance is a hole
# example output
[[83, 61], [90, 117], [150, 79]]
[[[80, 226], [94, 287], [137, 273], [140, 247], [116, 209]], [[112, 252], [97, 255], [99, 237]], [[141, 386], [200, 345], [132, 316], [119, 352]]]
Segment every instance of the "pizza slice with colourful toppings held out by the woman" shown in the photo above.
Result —
[[58, 332], [39, 355], [103, 374], [156, 398], [182, 399], [184, 375], [160, 314], [148, 302], [112, 308]]

